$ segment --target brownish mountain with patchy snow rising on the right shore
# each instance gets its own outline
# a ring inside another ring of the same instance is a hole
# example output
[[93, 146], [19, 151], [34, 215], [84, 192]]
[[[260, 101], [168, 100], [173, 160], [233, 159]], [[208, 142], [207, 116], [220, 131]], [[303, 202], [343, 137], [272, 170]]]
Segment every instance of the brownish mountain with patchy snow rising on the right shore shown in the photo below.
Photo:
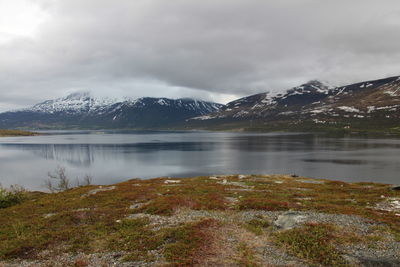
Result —
[[396, 128], [400, 127], [400, 77], [341, 87], [310, 81], [282, 94], [267, 92], [235, 100], [189, 123], [201, 128]]

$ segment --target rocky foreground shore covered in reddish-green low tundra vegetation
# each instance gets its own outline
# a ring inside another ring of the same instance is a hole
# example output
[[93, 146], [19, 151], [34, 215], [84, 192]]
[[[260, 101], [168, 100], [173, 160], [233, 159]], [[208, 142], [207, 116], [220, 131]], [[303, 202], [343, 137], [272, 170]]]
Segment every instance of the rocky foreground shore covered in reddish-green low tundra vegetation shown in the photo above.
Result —
[[130, 180], [0, 209], [0, 266], [400, 266], [400, 191], [285, 175]]

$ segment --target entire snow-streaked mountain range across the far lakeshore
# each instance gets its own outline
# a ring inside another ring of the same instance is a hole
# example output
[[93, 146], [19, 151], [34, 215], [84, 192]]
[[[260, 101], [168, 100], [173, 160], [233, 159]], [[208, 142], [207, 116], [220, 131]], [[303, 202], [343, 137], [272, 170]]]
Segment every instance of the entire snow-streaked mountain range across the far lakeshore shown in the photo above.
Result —
[[130, 128], [400, 132], [400, 77], [331, 87], [313, 80], [226, 105], [194, 100], [94, 98], [75, 93], [0, 113], [0, 128]]

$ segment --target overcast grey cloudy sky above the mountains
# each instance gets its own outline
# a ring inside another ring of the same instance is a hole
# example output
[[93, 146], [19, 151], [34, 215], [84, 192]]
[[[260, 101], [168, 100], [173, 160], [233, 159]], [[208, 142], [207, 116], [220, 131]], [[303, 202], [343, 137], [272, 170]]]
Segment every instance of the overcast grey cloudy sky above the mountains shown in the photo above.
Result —
[[400, 75], [398, 0], [0, 0], [0, 111]]

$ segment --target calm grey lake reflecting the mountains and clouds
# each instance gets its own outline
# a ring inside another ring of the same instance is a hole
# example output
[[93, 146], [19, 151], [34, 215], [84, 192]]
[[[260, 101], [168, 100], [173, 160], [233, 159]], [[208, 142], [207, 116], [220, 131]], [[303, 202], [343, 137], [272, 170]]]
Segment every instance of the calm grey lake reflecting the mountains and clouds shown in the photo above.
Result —
[[95, 184], [131, 178], [297, 174], [400, 183], [400, 139], [304, 133], [53, 131], [0, 138], [0, 183], [45, 190], [48, 172]]

